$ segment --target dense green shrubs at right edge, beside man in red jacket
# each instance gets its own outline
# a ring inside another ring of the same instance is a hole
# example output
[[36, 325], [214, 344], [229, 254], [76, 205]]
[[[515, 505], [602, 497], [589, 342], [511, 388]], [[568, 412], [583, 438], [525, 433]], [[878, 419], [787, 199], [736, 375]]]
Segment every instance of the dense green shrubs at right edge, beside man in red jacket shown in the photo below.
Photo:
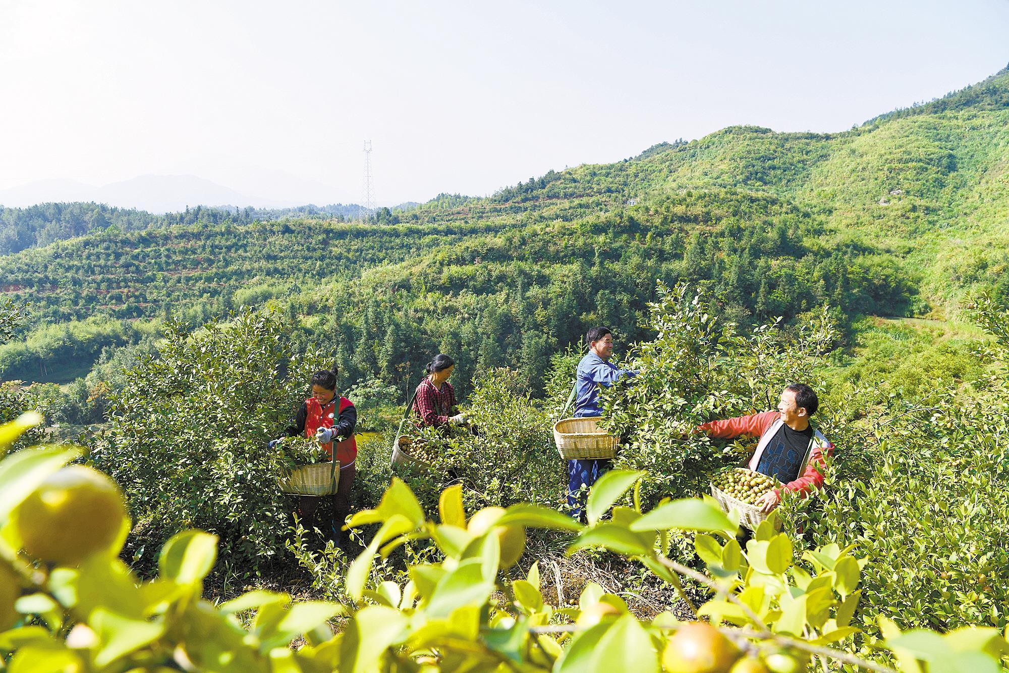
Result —
[[1009, 626], [1009, 313], [980, 305], [996, 339], [977, 354], [989, 374], [917, 399], [854, 394], [849, 403], [871, 415], [843, 451], [869, 465], [827, 470], [822, 491], [786, 508], [808, 545], [853, 546], [869, 560], [861, 621], [870, 632], [883, 613], [903, 628]]

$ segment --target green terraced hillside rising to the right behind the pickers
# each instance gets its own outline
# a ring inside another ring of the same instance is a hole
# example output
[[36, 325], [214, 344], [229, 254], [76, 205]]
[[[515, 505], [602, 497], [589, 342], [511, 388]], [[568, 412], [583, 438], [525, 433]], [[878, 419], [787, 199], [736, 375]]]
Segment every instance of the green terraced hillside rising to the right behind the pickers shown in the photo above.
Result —
[[534, 388], [587, 322], [641, 339], [656, 280], [709, 283], [742, 321], [823, 303], [956, 315], [974, 288], [1009, 294], [1007, 97], [1003, 71], [842, 133], [731, 127], [385, 223], [250, 211], [25, 250], [0, 258], [0, 290], [50, 326], [0, 351], [0, 370], [79, 370], [103, 342], [75, 320], [197, 324], [271, 298], [308, 333], [339, 334], [348, 377], [454, 350], [463, 369], [517, 367]]

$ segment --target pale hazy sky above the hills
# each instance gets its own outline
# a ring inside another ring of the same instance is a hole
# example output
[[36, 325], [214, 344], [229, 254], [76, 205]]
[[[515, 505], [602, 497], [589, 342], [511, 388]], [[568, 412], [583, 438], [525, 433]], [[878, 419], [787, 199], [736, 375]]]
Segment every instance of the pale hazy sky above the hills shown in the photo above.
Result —
[[[0, 189], [482, 195], [730, 124], [836, 131], [1009, 62], [1009, 0], [0, 0]], [[281, 173], [283, 172], [283, 173]]]

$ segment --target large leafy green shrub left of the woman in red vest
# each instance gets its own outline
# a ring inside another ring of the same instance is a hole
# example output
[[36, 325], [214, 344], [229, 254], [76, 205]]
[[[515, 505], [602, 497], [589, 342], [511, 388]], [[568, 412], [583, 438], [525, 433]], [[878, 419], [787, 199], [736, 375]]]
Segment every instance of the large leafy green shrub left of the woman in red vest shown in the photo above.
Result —
[[126, 492], [136, 554], [192, 526], [217, 535], [240, 573], [282, 552], [292, 501], [275, 487], [283, 454], [266, 443], [305, 399], [311, 373], [332, 365], [315, 352], [291, 356], [289, 329], [269, 311], [194, 333], [173, 323], [157, 357], [127, 373], [92, 459]]

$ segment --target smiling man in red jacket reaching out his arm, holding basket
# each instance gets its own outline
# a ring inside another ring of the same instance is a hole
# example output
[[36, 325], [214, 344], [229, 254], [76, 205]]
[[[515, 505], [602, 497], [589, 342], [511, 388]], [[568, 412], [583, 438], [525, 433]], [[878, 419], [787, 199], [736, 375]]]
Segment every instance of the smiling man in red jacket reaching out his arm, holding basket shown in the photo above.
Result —
[[833, 445], [809, 424], [818, 405], [812, 388], [792, 383], [781, 391], [777, 411], [712, 420], [697, 429], [722, 440], [760, 438], [748, 467], [784, 484], [757, 499], [761, 509], [771, 511], [781, 502], [781, 491], [805, 495], [823, 484], [823, 454], [829, 455]]

